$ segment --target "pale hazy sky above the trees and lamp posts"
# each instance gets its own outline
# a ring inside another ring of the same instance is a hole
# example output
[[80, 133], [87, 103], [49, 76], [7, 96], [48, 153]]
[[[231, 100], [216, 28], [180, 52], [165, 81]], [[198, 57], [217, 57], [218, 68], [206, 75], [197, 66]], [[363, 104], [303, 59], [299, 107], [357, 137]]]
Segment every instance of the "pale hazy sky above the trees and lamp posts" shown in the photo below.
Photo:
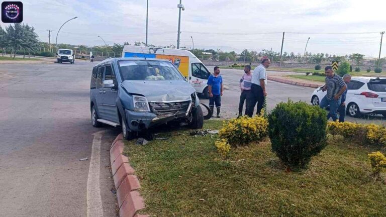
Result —
[[[56, 31], [72, 17], [58, 42], [84, 45], [145, 41], [146, 0], [27, 0], [24, 23], [34, 26], [42, 41], [47, 29], [55, 42]], [[176, 44], [178, 0], [149, 0], [149, 44]], [[302, 53], [363, 53], [377, 57], [379, 32], [386, 30], [386, 1], [355, 0], [182, 0], [181, 46]], [[5, 26], [5, 24], [2, 24]], [[266, 34], [262, 34], [266, 33]], [[355, 33], [355, 34], [315, 34]], [[369, 33], [369, 34], [363, 34]], [[386, 36], [386, 35], [385, 35]], [[381, 56], [386, 56], [386, 47]]]

